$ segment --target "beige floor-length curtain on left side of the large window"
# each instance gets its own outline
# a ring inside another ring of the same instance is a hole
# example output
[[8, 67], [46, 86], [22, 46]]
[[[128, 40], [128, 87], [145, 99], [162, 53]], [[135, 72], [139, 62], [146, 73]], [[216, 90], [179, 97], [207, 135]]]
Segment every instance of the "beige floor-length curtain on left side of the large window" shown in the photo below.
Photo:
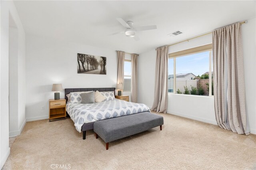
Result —
[[152, 111], [167, 112], [168, 100], [168, 46], [156, 49], [155, 91]]

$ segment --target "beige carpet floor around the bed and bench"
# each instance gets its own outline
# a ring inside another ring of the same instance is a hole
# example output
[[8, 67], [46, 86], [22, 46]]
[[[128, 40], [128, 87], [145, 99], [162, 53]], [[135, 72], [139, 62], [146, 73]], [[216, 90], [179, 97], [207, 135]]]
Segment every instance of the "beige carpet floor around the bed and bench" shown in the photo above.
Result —
[[[3, 169], [255, 169], [256, 135], [170, 115], [163, 130], [110, 142], [92, 130], [82, 140], [72, 120], [27, 122]], [[65, 166], [65, 167], [64, 167]]]

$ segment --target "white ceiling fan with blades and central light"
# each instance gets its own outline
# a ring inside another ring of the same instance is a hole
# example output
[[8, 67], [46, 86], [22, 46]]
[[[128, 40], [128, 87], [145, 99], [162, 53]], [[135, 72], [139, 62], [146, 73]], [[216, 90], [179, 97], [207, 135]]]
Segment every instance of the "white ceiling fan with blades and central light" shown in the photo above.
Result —
[[127, 37], [132, 37], [132, 38], [134, 38], [134, 40], [138, 41], [138, 40], [140, 40], [140, 38], [138, 36], [135, 36], [136, 32], [156, 29], [156, 25], [154, 25], [154, 26], [141, 26], [141, 27], [134, 28], [132, 21], [125, 22], [122, 18], [116, 18], [116, 20], [118, 20], [118, 22], [120, 22], [120, 24], [122, 24], [122, 26], [125, 27], [125, 30], [109, 34], [111, 36], [116, 35], [116, 34], [124, 33]]

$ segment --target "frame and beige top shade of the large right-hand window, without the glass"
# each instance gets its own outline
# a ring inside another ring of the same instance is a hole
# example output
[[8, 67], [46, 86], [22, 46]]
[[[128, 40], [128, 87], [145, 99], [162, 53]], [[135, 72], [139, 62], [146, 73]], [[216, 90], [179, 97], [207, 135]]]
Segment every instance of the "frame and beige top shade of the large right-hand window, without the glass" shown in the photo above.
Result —
[[[196, 54], [196, 53], [202, 53], [205, 51], [209, 51], [209, 95], [204, 96], [204, 97], [214, 97], [214, 95], [212, 95], [212, 74], [211, 74], [212, 73], [212, 43], [168, 54], [168, 59], [173, 59], [173, 68], [174, 68], [174, 70], [173, 70], [173, 92], [168, 92], [168, 93], [177, 94], [177, 92], [176, 92], [176, 58], [183, 57], [186, 55], [192, 55], [192, 54]], [[192, 95], [192, 96], [198, 96], [198, 95]]]

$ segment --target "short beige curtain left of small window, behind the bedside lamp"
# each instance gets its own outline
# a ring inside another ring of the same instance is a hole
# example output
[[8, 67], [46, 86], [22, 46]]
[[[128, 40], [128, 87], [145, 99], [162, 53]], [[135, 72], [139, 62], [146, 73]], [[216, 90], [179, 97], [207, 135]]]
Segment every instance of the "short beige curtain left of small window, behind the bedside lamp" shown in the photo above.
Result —
[[116, 51], [117, 53], [117, 84], [124, 85], [124, 51]]

